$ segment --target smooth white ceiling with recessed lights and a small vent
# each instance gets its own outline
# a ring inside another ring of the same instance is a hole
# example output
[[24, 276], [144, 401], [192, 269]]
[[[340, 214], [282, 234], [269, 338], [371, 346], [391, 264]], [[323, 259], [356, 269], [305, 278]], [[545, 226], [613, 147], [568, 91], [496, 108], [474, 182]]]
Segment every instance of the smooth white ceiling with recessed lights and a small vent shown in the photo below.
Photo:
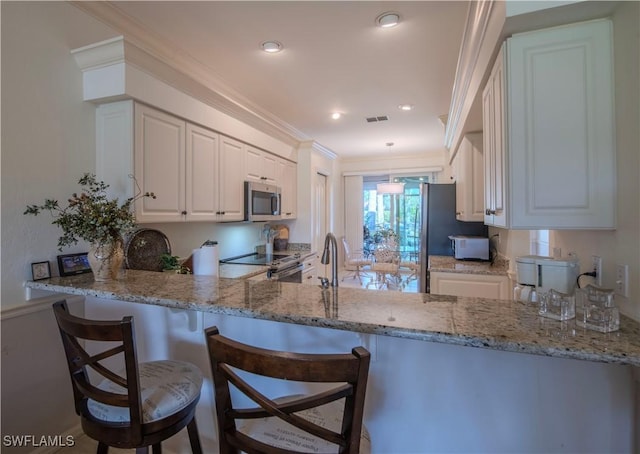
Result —
[[[173, 55], [188, 55], [201, 65], [217, 92], [260, 112], [296, 140], [314, 140], [342, 158], [444, 149], [439, 117], [449, 111], [468, 2], [123, 1], [110, 6], [119, 21], [126, 19]], [[376, 26], [376, 17], [386, 11], [398, 12], [400, 24]], [[118, 30], [113, 20], [109, 25]], [[284, 50], [261, 51], [266, 40], [281, 42]], [[401, 111], [400, 104], [414, 108]], [[333, 112], [342, 117], [332, 119]], [[378, 116], [388, 120], [366, 121]]]

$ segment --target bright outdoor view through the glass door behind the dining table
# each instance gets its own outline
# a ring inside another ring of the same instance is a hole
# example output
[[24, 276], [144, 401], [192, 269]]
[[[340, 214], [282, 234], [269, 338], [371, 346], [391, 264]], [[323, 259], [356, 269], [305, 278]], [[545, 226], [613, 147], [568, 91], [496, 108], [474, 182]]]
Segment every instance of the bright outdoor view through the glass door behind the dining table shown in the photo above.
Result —
[[363, 250], [373, 254], [381, 244], [392, 241], [403, 258], [415, 259], [420, 250], [420, 185], [428, 183], [429, 176], [393, 178], [393, 183], [404, 184], [399, 194], [379, 191], [378, 184], [388, 182], [383, 177], [364, 178]]

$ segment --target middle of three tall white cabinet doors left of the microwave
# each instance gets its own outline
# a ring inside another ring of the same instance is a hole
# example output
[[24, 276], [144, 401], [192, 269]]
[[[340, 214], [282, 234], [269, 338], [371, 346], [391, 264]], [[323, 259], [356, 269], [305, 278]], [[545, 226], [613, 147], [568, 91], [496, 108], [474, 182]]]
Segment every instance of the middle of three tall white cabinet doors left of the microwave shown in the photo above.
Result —
[[215, 221], [219, 208], [218, 134], [187, 124], [186, 206], [187, 221]]

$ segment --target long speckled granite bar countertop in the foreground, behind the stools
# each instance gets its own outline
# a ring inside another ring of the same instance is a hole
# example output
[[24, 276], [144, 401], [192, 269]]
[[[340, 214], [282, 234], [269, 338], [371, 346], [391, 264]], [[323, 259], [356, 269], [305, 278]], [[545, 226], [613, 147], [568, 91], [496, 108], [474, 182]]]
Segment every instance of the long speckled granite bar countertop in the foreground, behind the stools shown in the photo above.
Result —
[[640, 324], [600, 333], [570, 320], [537, 315], [533, 306], [424, 293], [279, 281], [250, 281], [127, 270], [112, 282], [93, 275], [54, 277], [27, 287], [429, 342], [640, 366]]

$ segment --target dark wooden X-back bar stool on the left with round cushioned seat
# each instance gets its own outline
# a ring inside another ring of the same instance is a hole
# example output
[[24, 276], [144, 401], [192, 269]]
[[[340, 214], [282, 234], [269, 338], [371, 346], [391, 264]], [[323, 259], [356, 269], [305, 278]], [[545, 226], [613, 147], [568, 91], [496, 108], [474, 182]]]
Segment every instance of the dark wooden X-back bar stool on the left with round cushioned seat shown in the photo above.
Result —
[[[86, 320], [71, 315], [64, 300], [54, 303], [53, 311], [67, 356], [76, 413], [84, 433], [98, 441], [98, 454], [107, 453], [109, 446], [135, 448], [136, 454], [148, 453], [153, 446], [154, 454], [160, 453], [160, 443], [185, 426], [192, 452], [202, 452], [195, 420], [202, 372], [196, 366], [169, 360], [138, 364], [133, 317]], [[81, 340], [99, 342], [104, 350], [91, 355]], [[106, 347], [105, 342], [109, 342]], [[113, 357], [124, 362], [122, 370], [115, 372], [101, 363]], [[97, 380], [91, 379], [88, 368], [97, 373], [93, 374], [99, 376]]]

